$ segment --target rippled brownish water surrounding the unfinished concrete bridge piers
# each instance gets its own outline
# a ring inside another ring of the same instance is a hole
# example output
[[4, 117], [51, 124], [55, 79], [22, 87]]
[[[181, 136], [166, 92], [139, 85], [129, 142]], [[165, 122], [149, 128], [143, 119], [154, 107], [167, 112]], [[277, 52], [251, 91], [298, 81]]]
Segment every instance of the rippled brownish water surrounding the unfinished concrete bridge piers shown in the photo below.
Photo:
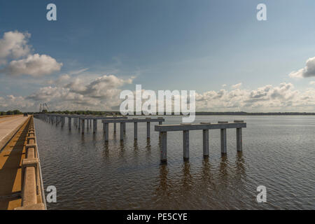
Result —
[[[160, 165], [158, 132], [146, 123], [119, 125], [109, 143], [102, 123], [79, 134], [35, 119], [43, 183], [57, 188], [48, 209], [315, 209], [315, 116], [197, 116], [197, 122], [245, 120], [243, 152], [228, 130], [221, 157], [220, 131], [210, 132], [210, 156], [202, 156], [202, 131], [190, 132], [190, 161], [183, 162], [182, 133], [167, 134], [167, 165]], [[166, 117], [181, 123], [181, 117]], [[66, 120], [67, 124], [67, 120]], [[267, 188], [267, 202], [256, 188]]]

